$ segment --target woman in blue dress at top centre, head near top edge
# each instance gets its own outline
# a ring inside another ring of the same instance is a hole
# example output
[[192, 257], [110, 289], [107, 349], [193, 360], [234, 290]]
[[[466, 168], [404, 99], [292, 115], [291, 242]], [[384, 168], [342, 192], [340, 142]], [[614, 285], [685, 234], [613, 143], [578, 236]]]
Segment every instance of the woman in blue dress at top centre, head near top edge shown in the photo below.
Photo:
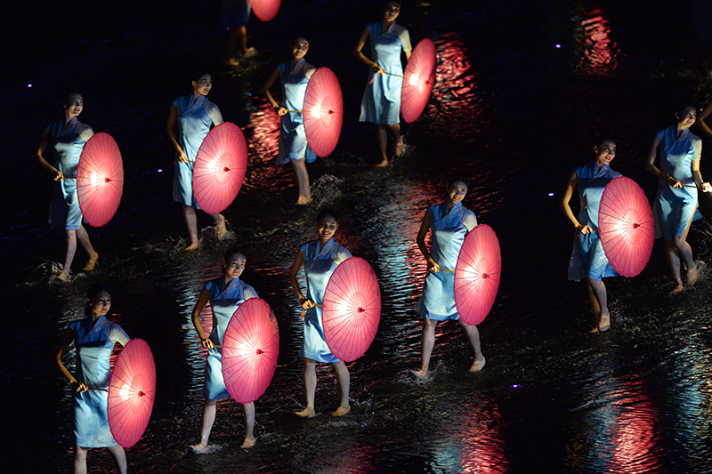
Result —
[[[384, 20], [368, 24], [356, 47], [353, 48], [356, 58], [371, 68], [368, 71], [368, 84], [361, 100], [359, 120], [377, 125], [376, 138], [381, 154], [381, 163], [377, 166], [388, 165], [386, 146], [389, 130], [395, 140], [396, 157], [400, 157], [405, 151], [401, 125], [399, 125], [403, 84], [401, 50], [406, 53], [406, 59], [409, 60], [412, 47], [408, 29], [395, 22], [399, 13], [401, 13], [400, 2], [386, 2]], [[371, 59], [361, 52], [367, 41], [371, 46]]]

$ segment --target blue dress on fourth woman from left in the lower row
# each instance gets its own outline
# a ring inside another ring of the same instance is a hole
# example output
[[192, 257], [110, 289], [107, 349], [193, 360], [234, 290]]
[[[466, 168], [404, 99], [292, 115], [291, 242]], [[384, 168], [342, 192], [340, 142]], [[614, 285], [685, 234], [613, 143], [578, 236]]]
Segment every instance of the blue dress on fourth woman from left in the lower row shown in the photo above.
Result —
[[455, 306], [455, 273], [442, 269], [455, 270], [465, 235], [477, 226], [474, 213], [462, 203], [453, 205], [448, 211], [448, 203], [431, 205], [430, 230], [433, 245], [430, 255], [441, 270], [428, 272], [423, 286], [423, 295], [417, 304], [420, 316], [437, 321], [459, 319]]

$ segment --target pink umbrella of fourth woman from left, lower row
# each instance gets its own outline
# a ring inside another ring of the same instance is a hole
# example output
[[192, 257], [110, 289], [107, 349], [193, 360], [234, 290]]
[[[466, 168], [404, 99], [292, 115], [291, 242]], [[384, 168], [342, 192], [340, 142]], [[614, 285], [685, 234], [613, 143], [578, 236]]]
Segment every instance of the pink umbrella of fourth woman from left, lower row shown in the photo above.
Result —
[[497, 234], [480, 224], [465, 237], [455, 268], [455, 305], [465, 323], [479, 325], [490, 313], [501, 273]]

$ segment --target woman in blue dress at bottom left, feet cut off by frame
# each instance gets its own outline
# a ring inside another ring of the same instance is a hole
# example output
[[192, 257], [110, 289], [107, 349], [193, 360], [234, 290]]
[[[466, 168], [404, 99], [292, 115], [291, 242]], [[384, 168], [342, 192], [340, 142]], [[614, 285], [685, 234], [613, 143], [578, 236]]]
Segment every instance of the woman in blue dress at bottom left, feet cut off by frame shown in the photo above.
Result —
[[[74, 394], [74, 471], [86, 472], [86, 452], [93, 447], [106, 447], [113, 454], [119, 472], [126, 472], [124, 448], [117, 445], [109, 429], [107, 403], [111, 368], [109, 359], [114, 344], [125, 346], [128, 335], [111, 323], [106, 313], [111, 308], [111, 295], [101, 285], [93, 285], [87, 294], [84, 319], [73, 321], [61, 338], [55, 365], [71, 385]], [[69, 374], [61, 357], [74, 341], [77, 351], [77, 374]]]

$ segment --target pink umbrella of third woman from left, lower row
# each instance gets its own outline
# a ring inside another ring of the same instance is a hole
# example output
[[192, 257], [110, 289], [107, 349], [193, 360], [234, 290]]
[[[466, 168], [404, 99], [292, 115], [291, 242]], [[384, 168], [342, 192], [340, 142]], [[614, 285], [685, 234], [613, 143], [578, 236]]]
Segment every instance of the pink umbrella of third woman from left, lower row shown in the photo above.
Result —
[[328, 279], [321, 310], [328, 348], [347, 362], [360, 358], [376, 337], [381, 290], [368, 261], [351, 257]]

